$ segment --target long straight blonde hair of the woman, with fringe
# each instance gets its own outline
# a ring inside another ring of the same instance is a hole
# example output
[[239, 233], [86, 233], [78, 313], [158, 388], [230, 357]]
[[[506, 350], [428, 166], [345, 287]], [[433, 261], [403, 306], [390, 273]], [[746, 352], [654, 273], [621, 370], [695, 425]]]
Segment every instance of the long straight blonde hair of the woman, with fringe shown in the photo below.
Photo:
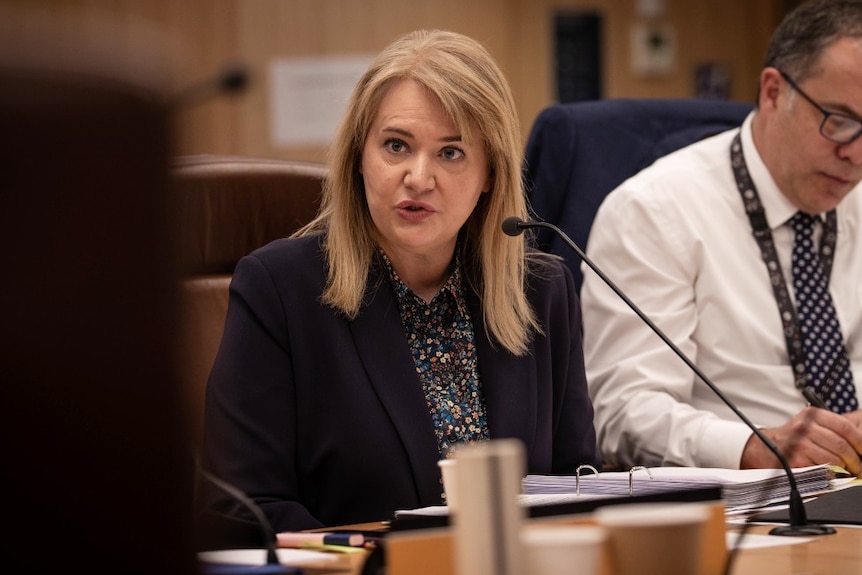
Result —
[[[524, 355], [534, 330], [542, 329], [525, 293], [525, 239], [501, 231], [506, 217], [527, 217], [514, 98], [487, 50], [454, 32], [417, 30], [402, 36], [377, 56], [353, 91], [329, 149], [320, 211], [294, 234], [326, 233], [328, 281], [322, 299], [349, 319], [359, 314], [376, 250], [359, 172], [362, 149], [381, 100], [400, 79], [433, 93], [465, 141], [484, 142], [492, 184], [461, 230], [463, 273], [481, 299], [492, 342]], [[471, 127], [479, 133], [471, 133]]]

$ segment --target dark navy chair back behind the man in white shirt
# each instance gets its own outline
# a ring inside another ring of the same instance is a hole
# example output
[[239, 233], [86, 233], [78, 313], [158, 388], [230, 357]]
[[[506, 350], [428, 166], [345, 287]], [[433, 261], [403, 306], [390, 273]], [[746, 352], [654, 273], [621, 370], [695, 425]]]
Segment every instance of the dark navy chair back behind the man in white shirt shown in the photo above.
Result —
[[[610, 99], [542, 110], [527, 141], [524, 177], [536, 219], [559, 227], [582, 249], [596, 210], [617, 185], [657, 158], [739, 126], [752, 110], [707, 99]], [[562, 256], [580, 289], [580, 259], [549, 230], [539, 247]]]

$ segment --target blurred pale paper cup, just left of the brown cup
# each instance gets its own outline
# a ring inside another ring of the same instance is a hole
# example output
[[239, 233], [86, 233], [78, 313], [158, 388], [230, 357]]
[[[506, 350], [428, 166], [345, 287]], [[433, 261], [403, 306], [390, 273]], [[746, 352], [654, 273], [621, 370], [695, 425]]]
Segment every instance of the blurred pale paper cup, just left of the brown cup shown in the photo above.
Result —
[[596, 575], [607, 532], [593, 525], [527, 526], [521, 542], [530, 575]]

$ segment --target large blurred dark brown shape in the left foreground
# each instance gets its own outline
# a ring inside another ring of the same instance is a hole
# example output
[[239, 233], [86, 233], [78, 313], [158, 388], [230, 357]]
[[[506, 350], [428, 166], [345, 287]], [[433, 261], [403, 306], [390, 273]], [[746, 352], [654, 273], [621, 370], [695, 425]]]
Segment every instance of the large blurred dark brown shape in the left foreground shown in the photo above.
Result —
[[132, 32], [0, 9], [10, 573], [195, 569], [173, 357], [170, 118], [159, 44]]

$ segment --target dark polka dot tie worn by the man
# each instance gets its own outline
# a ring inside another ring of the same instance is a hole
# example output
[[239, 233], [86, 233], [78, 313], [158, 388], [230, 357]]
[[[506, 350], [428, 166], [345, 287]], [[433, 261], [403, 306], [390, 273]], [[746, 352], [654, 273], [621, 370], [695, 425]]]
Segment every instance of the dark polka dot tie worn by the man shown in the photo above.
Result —
[[796, 313], [807, 355], [808, 381], [824, 403], [837, 413], [857, 409], [856, 388], [841, 325], [832, 305], [820, 257], [814, 249], [815, 216], [797, 213], [790, 220], [793, 243], [793, 288]]

